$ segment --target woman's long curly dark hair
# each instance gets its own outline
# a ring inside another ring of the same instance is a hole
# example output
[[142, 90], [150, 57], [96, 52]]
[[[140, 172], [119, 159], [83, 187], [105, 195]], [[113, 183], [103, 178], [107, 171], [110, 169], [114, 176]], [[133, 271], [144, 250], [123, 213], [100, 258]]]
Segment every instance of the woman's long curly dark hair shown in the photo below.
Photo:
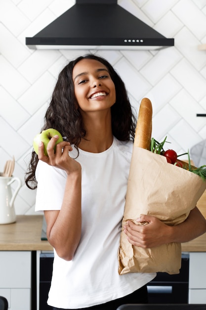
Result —
[[[85, 137], [86, 130], [82, 115], [76, 108], [78, 102], [75, 98], [72, 78], [74, 66], [82, 59], [94, 59], [107, 67], [116, 90], [116, 103], [111, 107], [113, 135], [120, 141], [134, 140], [136, 117], [132, 112], [124, 82], [106, 59], [94, 54], [86, 54], [70, 61], [60, 72], [41, 131], [55, 128], [76, 148], [81, 139]], [[33, 151], [25, 176], [25, 183], [30, 189], [37, 188], [35, 171], [38, 161], [38, 155]]]

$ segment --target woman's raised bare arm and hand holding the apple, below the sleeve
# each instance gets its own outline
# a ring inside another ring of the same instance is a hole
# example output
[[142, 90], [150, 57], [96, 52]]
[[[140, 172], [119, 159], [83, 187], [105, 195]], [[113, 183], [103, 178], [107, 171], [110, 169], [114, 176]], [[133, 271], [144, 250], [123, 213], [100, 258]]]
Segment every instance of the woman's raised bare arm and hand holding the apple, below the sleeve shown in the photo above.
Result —
[[60, 258], [71, 260], [81, 239], [82, 231], [82, 172], [80, 163], [69, 156], [72, 147], [63, 141], [56, 145], [58, 136], [54, 136], [46, 148], [48, 156], [43, 153], [43, 143], [39, 145], [39, 159], [51, 166], [63, 169], [67, 173], [64, 197], [60, 210], [44, 211], [47, 223], [47, 239], [55, 248]]

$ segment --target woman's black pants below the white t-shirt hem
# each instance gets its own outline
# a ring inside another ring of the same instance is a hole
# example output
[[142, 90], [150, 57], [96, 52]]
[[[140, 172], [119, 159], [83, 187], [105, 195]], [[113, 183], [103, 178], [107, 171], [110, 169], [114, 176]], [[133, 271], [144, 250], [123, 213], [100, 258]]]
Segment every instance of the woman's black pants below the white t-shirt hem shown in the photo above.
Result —
[[[124, 296], [123, 298], [119, 298], [116, 300], [113, 300], [111, 302], [97, 305], [97, 306], [92, 306], [89, 308], [79, 308], [77, 310], [117, 310], [117, 308], [121, 305], [124, 304], [147, 304], [148, 299], [147, 299], [147, 286], [143, 286], [137, 291]], [[60, 308], [53, 308], [53, 310], [65, 310], [65, 309], [60, 309]], [[66, 310], [71, 310], [71, 309], [66, 309]]]

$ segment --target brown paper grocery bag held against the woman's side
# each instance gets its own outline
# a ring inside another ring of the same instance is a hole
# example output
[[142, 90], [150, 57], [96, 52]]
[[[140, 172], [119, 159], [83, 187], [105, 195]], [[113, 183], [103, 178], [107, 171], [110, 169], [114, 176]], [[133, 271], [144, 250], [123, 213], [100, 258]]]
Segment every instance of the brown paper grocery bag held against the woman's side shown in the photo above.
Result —
[[[141, 214], [177, 225], [187, 218], [205, 190], [206, 181], [193, 172], [167, 163], [165, 156], [133, 147], [122, 226], [128, 219], [135, 222]], [[176, 274], [181, 267], [181, 244], [143, 249], [132, 246], [122, 231], [118, 259], [119, 274]]]

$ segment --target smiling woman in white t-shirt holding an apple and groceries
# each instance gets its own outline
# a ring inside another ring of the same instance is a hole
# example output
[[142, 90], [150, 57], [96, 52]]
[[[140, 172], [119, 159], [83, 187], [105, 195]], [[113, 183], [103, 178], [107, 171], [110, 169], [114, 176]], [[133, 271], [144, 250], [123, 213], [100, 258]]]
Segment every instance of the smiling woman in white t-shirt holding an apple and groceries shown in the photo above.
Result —
[[[146, 283], [155, 274], [118, 274], [118, 248], [132, 153], [135, 117], [124, 83], [103, 58], [88, 54], [60, 73], [43, 129], [55, 128], [64, 142], [39, 145], [26, 184], [38, 181], [36, 210], [44, 211], [54, 248], [48, 305], [53, 309], [116, 310], [147, 303]], [[69, 156], [68, 156], [69, 153]], [[40, 159], [40, 160], [39, 160]], [[36, 176], [35, 176], [36, 173]], [[186, 242], [206, 231], [195, 208], [175, 227], [143, 215], [124, 232], [131, 244], [154, 247]]]

